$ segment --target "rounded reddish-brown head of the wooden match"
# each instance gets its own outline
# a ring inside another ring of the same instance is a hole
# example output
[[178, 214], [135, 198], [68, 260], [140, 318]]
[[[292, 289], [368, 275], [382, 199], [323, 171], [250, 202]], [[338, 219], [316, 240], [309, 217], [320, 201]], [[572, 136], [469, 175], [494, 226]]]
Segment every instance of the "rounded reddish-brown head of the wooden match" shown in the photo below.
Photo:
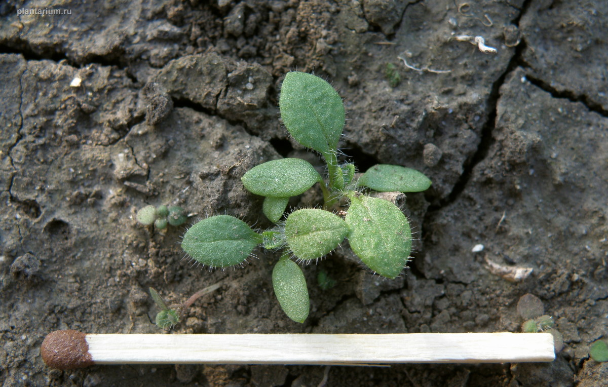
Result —
[[55, 330], [46, 335], [40, 354], [50, 368], [72, 369], [93, 365], [86, 334], [78, 330]]

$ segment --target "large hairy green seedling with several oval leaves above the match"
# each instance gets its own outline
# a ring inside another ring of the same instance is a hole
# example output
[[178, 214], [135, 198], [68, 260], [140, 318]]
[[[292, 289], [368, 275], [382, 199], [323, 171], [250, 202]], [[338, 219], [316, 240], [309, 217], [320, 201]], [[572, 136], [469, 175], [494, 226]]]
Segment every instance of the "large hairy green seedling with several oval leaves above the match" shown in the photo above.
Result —
[[[229, 267], [246, 261], [262, 245], [282, 250], [272, 270], [272, 286], [281, 307], [294, 321], [308, 317], [308, 288], [296, 262], [323, 258], [348, 239], [353, 252], [373, 272], [395, 278], [404, 269], [412, 248], [406, 216], [388, 200], [365, 194], [375, 191], [424, 191], [430, 180], [424, 174], [397, 165], [375, 165], [354, 181], [352, 163], [340, 165], [337, 145], [344, 128], [344, 104], [322, 78], [289, 72], [281, 89], [279, 108], [292, 137], [319, 152], [327, 165], [321, 176], [302, 159], [272, 160], [255, 166], [241, 178], [250, 192], [264, 196], [263, 213], [275, 223], [255, 231], [229, 215], [207, 217], [184, 235], [182, 248], [193, 259], [210, 267]], [[289, 197], [316, 183], [323, 193], [323, 208], [304, 208], [281, 221]], [[347, 205], [337, 210], [342, 202]]]

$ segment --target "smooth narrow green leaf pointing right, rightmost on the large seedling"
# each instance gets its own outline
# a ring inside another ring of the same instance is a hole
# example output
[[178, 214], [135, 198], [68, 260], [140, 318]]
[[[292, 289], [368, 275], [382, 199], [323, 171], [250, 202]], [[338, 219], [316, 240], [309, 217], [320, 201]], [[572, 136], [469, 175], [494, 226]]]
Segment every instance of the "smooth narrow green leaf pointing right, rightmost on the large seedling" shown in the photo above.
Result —
[[379, 192], [421, 192], [430, 187], [430, 180], [412, 168], [376, 164], [361, 176], [357, 185]]

